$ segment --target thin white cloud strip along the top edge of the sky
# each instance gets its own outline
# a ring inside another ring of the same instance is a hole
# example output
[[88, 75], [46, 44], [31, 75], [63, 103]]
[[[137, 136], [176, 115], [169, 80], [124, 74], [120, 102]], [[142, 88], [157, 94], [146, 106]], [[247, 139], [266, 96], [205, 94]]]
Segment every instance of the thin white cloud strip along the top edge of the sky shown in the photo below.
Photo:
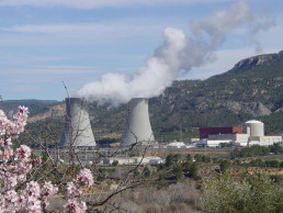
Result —
[[109, 7], [165, 5], [215, 3], [231, 0], [1, 0], [0, 7], [67, 7], [77, 9], [95, 9]]

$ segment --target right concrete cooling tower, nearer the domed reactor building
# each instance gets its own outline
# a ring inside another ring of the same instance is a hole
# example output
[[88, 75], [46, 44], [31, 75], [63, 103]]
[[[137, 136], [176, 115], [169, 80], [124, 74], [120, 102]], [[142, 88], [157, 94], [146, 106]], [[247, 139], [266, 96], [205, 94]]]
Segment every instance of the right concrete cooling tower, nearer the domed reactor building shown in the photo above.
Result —
[[148, 100], [144, 98], [132, 99], [128, 103], [128, 111], [126, 112], [121, 147], [126, 147], [137, 142], [148, 145], [154, 141], [155, 136], [148, 114]]

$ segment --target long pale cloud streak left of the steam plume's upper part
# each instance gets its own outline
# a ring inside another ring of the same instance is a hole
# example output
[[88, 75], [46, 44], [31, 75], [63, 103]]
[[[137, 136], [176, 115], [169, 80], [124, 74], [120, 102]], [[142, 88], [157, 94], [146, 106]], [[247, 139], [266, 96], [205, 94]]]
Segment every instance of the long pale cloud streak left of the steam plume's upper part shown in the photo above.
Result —
[[147, 18], [120, 19], [91, 23], [26, 24], [0, 27], [0, 45], [71, 45], [121, 43], [126, 41], [160, 38], [168, 25], [184, 27], [186, 22], [176, 19], [149, 20]]

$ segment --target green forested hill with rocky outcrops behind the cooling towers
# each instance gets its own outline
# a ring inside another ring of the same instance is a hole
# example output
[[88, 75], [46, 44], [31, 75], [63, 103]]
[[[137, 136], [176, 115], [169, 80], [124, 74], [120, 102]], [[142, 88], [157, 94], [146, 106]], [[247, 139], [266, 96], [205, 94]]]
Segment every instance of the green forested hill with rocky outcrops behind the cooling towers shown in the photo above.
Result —
[[[118, 137], [125, 109], [90, 103], [95, 134]], [[244, 59], [206, 80], [174, 81], [162, 96], [149, 100], [149, 112], [155, 135], [179, 131], [180, 126], [185, 133], [200, 126], [240, 125], [250, 119], [264, 122], [268, 134], [282, 133], [283, 52]], [[61, 114], [55, 117], [64, 122]]]

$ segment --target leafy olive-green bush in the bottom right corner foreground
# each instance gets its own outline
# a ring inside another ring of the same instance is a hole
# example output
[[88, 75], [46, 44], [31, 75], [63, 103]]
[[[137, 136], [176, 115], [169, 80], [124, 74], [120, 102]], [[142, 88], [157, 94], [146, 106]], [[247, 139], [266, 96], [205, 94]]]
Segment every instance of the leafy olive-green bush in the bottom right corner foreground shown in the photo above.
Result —
[[225, 173], [205, 183], [204, 212], [282, 212], [283, 190], [268, 176], [236, 182]]

